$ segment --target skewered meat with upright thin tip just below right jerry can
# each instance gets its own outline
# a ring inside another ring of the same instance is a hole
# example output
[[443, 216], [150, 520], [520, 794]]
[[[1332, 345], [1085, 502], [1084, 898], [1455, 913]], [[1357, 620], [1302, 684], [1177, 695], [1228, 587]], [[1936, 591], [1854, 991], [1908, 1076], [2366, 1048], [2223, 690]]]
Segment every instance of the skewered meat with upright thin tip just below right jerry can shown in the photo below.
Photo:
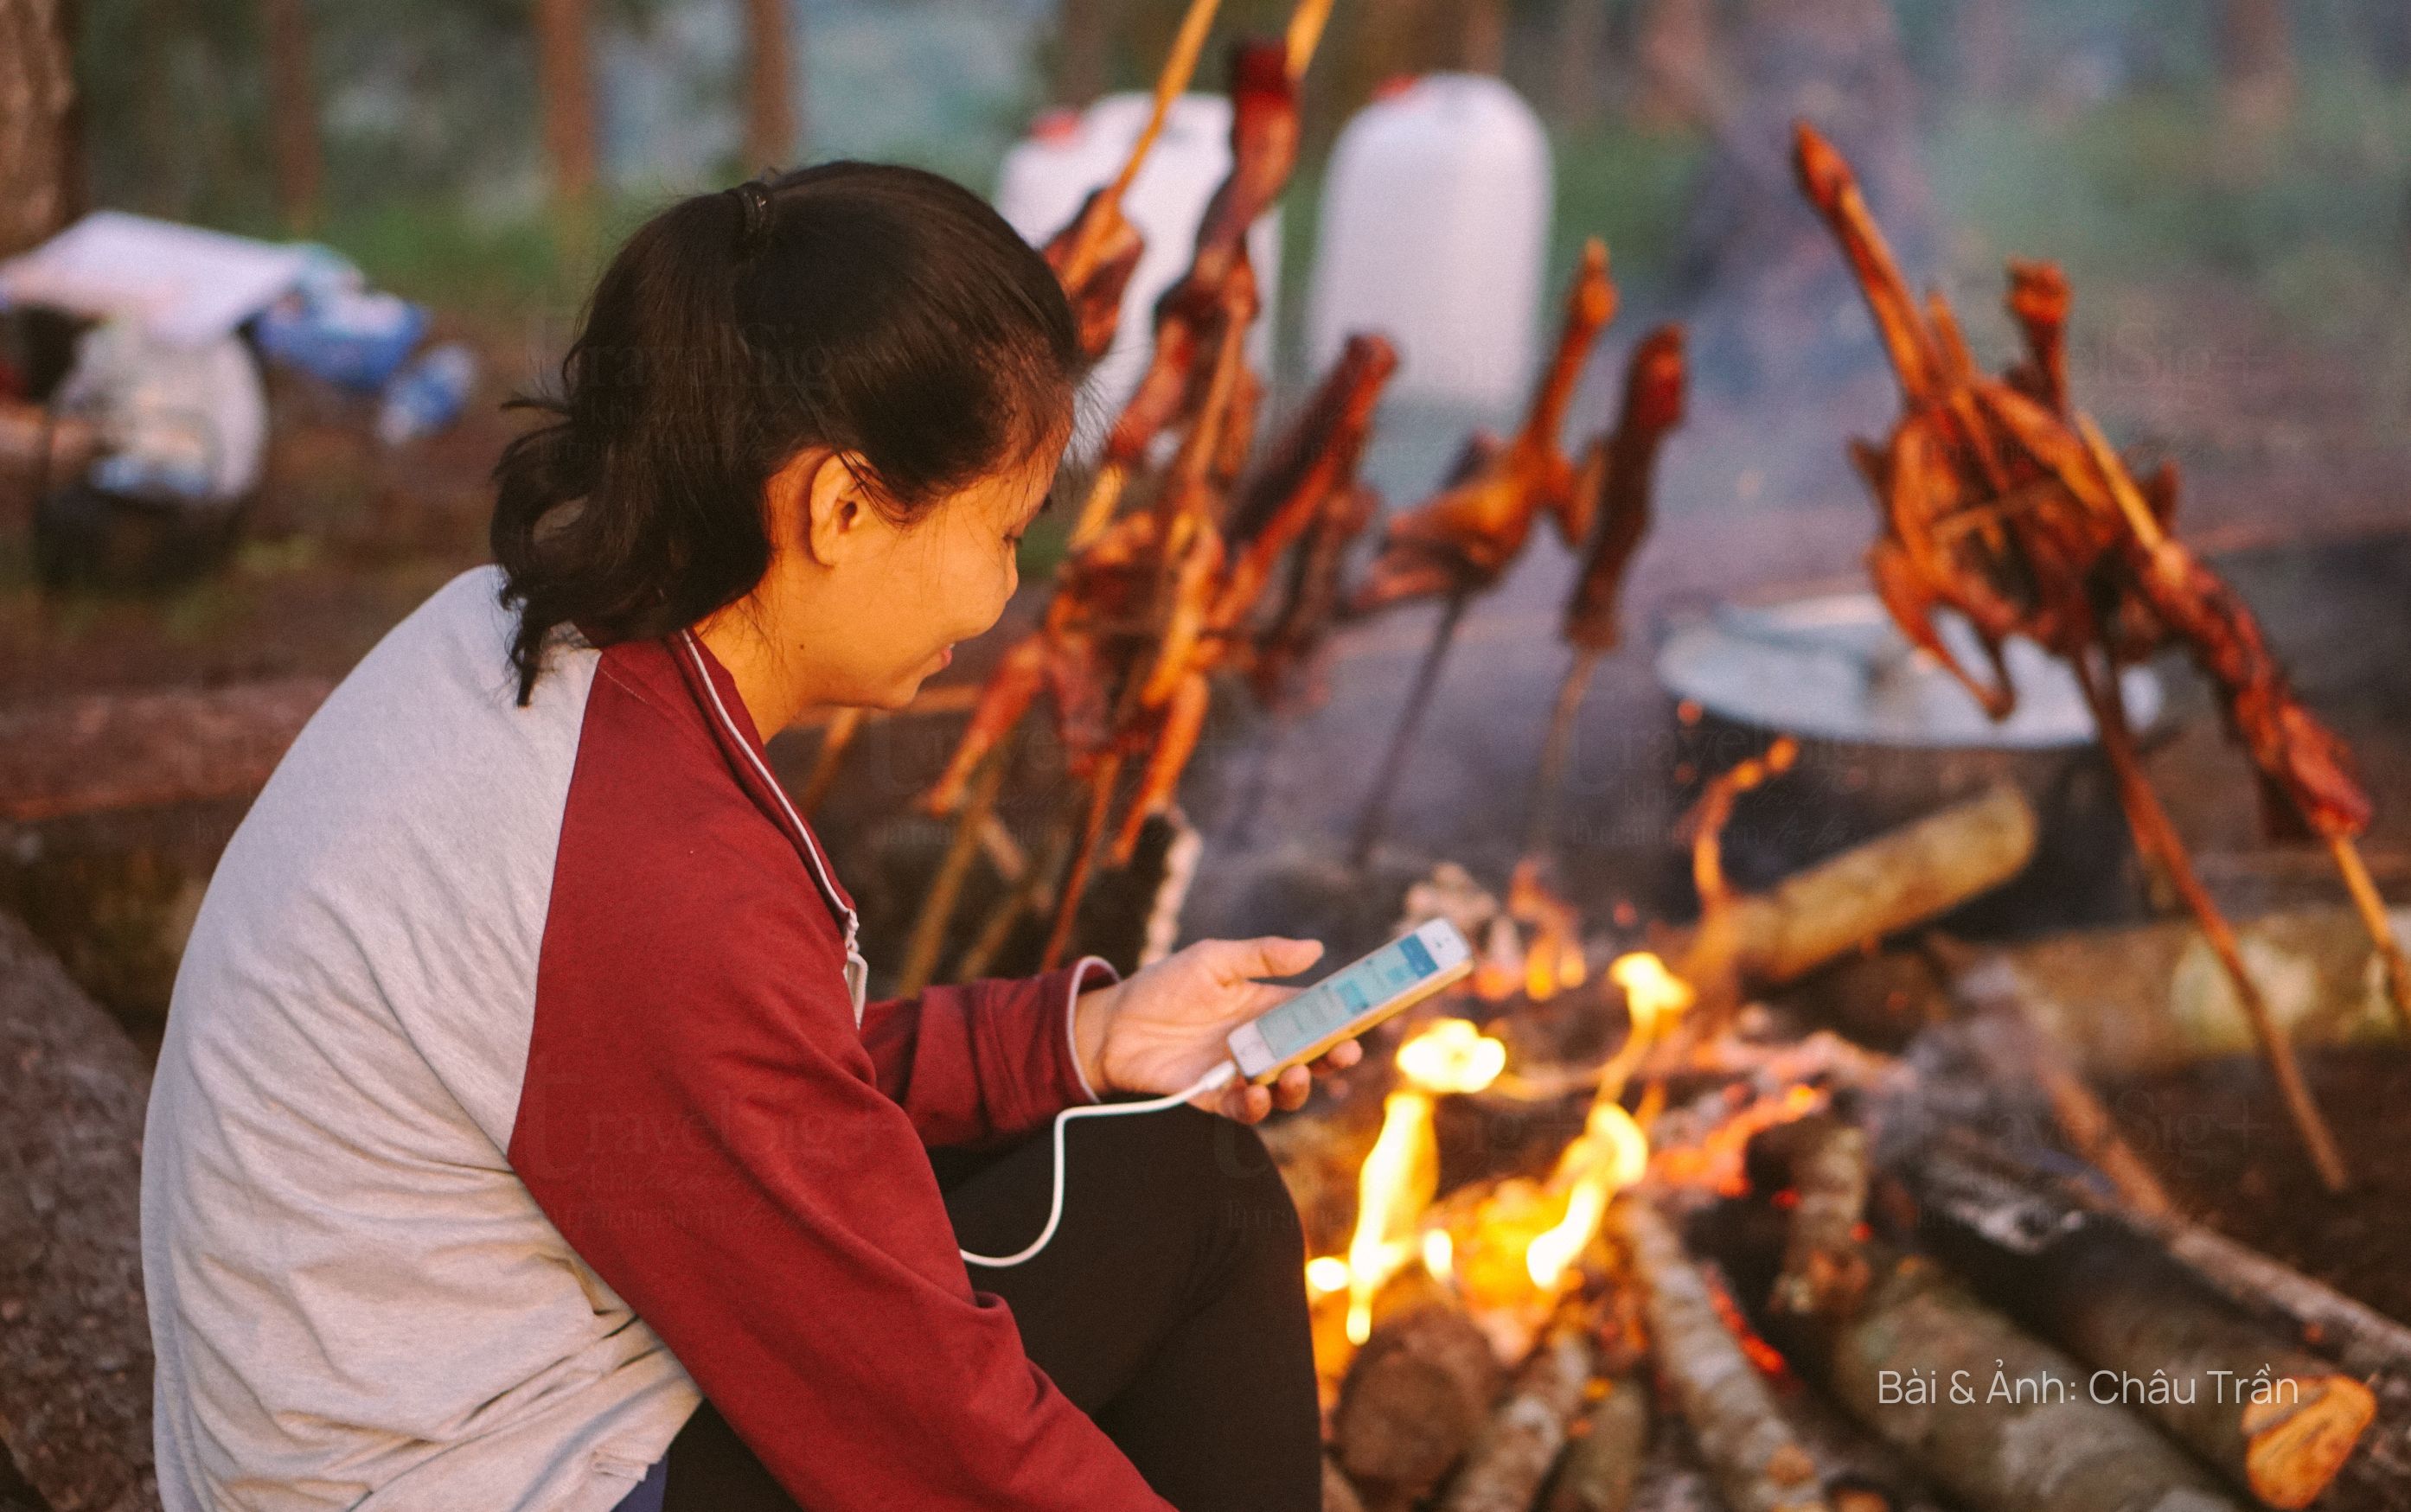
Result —
[[1524, 429], [1504, 449], [1478, 456], [1439, 497], [1389, 523], [1382, 555], [1348, 603], [1350, 613], [1369, 615], [1410, 598], [1476, 593], [1492, 586], [1524, 550], [1536, 514], [1550, 511], [1560, 528], [1570, 526], [1574, 463], [1558, 449], [1558, 432], [1591, 342], [1613, 313], [1608, 251], [1594, 239], [1567, 289], [1558, 352], [1533, 383]]

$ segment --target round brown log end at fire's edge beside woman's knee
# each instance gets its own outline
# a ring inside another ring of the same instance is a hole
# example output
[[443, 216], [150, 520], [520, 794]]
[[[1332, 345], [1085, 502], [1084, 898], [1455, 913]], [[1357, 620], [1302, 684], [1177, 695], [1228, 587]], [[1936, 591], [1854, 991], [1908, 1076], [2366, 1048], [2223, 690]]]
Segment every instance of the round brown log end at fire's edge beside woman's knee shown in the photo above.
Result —
[[1372, 1512], [1430, 1493], [1466, 1454], [1502, 1370], [1490, 1336], [1432, 1297], [1382, 1321], [1348, 1365], [1331, 1420], [1338, 1464]]

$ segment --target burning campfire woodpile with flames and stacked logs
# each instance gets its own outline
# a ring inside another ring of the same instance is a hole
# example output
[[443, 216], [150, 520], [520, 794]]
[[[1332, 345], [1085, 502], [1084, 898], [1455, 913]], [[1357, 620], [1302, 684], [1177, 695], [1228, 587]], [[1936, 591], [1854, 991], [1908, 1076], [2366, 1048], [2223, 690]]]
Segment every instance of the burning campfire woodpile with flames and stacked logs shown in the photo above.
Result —
[[[1796, 914], [1753, 926], [1782, 938], [1931, 916], [1999, 880], [1936, 875], [1938, 842], [2011, 803], [1741, 907]], [[1924, 904], [1852, 919], [1873, 861]], [[1461, 873], [1413, 907], [1512, 919]], [[1379, 1129], [1350, 1097], [1271, 1131], [1316, 1249], [1326, 1507], [2399, 1505], [2411, 1329], [2180, 1215], [2013, 1003], [1902, 1056], [1758, 1006], [1685, 1037], [1702, 1003], [1635, 953], [1488, 1032], [1401, 1030]], [[1601, 1008], [1623, 1042], [1558, 1059], [1553, 1015]], [[1483, 1162], [1444, 1194], [1442, 1145]]]

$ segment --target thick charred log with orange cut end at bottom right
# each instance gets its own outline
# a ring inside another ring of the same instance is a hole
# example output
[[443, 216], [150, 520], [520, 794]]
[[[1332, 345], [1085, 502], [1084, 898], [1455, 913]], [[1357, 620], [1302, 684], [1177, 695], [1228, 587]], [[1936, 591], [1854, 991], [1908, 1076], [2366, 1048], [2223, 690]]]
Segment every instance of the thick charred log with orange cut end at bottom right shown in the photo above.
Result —
[[1924, 1153], [1914, 1186], [1946, 1256], [2095, 1367], [2093, 1399], [2114, 1377], [2119, 1401], [2271, 1507], [2319, 1498], [2377, 1413], [2368, 1387], [2271, 1338], [2131, 1227], [2049, 1211], [1946, 1148]]

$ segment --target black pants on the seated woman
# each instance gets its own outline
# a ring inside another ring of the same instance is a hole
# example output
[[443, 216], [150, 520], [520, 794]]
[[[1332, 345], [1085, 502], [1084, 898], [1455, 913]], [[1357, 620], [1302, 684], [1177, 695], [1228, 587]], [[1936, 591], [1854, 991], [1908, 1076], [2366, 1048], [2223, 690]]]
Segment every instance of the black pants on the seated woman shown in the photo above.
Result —
[[[931, 1150], [962, 1247], [1034, 1240], [1051, 1160], [1046, 1131]], [[1263, 1141], [1189, 1107], [1075, 1119], [1066, 1172], [1054, 1242], [1022, 1266], [972, 1266], [972, 1285], [1013, 1307], [1029, 1358], [1181, 1512], [1319, 1510], [1304, 1240]], [[670, 1444], [663, 1512], [796, 1502], [706, 1401]]]

